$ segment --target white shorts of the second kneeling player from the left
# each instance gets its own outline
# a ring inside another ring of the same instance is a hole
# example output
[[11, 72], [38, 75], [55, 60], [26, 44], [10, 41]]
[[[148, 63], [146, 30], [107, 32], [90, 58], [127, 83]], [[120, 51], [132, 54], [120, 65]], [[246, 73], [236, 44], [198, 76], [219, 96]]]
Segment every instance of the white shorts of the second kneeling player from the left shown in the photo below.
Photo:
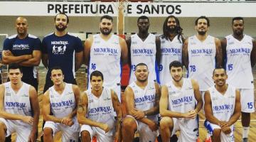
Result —
[[43, 129], [50, 128], [53, 130], [53, 136], [58, 131], [62, 131], [61, 141], [72, 141], [78, 142], [80, 126], [78, 124], [78, 119], [73, 118], [73, 126], [65, 126], [63, 124], [54, 123], [53, 121], [46, 121]]

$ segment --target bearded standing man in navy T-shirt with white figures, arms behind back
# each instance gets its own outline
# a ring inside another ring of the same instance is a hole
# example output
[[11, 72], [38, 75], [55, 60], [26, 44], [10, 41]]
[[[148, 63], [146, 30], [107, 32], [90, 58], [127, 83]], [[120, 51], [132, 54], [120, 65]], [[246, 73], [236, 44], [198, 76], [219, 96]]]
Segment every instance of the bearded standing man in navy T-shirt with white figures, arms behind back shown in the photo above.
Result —
[[[64, 82], [76, 84], [75, 71], [82, 65], [82, 41], [77, 36], [66, 31], [69, 18], [65, 13], [58, 13], [55, 18], [55, 32], [46, 35], [42, 41], [42, 62], [50, 69], [55, 66], [63, 70]], [[46, 84], [43, 92], [53, 86], [50, 80], [50, 71], [46, 75]]]

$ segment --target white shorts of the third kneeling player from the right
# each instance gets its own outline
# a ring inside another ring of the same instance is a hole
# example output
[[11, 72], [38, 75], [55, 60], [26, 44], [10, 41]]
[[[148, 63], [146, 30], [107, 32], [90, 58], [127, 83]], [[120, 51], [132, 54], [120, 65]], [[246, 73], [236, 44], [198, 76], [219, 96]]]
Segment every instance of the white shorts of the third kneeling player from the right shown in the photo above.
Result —
[[[132, 117], [134, 121], [137, 124], [137, 132], [139, 132], [139, 141], [155, 141], [156, 136], [158, 136], [158, 131], [151, 131], [149, 129], [149, 126], [144, 124], [141, 121], [137, 121], [133, 116], [127, 115], [127, 117]], [[157, 124], [157, 120], [154, 120], [155, 123]]]

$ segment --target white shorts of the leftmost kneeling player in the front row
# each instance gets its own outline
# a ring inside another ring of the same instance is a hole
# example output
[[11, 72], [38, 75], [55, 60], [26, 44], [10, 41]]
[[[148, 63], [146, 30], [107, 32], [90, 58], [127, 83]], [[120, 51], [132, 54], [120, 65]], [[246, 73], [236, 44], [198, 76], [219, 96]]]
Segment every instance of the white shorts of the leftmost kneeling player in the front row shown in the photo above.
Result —
[[[10, 136], [11, 133], [16, 132], [16, 141], [28, 141], [28, 137], [31, 134], [30, 132], [32, 130], [31, 125], [25, 123], [23, 123], [22, 125], [17, 125], [14, 124], [14, 121], [17, 120], [6, 120], [3, 118], [0, 118], [0, 121], [6, 125], [6, 137]], [[21, 121], [19, 121], [18, 123], [21, 123]]]

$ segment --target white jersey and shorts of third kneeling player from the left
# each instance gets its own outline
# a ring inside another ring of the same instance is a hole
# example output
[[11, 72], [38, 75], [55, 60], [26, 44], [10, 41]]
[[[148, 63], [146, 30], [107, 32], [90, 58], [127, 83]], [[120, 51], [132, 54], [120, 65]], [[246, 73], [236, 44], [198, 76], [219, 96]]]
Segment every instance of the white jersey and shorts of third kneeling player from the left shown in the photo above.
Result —
[[87, 90], [88, 106], [87, 106], [87, 119], [92, 121], [97, 121], [103, 124], [107, 124], [110, 128], [110, 131], [105, 133], [104, 130], [89, 125], [82, 125], [82, 131], [88, 131], [90, 133], [91, 139], [92, 136], [97, 135], [97, 141], [103, 142], [112, 142], [114, 141], [114, 108], [112, 104], [111, 89], [103, 88], [102, 94], [100, 97], [95, 97], [90, 90]]

